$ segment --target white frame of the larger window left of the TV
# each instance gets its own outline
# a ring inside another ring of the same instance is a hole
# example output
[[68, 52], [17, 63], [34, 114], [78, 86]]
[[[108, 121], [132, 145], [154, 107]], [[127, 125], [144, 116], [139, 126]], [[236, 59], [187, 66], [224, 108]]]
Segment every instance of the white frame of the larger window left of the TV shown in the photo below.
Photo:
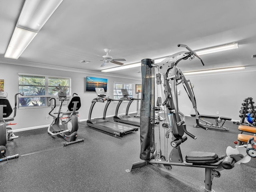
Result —
[[[52, 107], [53, 106], [53, 100], [50, 101], [50, 98], [55, 98], [56, 99], [56, 106], [60, 105], [60, 102], [58, 100], [58, 95], [49, 95], [49, 87], [51, 86], [48, 86], [48, 80], [49, 78], [60, 78], [60, 79], [68, 79], [69, 81], [69, 93], [67, 95], [67, 98], [70, 99], [71, 97], [71, 77], [63, 77], [63, 76], [51, 76], [51, 75], [39, 75], [39, 74], [27, 74], [27, 73], [18, 73], [18, 92], [20, 91], [19, 90], [19, 87], [20, 87], [20, 82], [19, 82], [19, 78], [20, 76], [37, 76], [37, 77], [43, 77], [45, 78], [45, 84], [44, 84], [44, 88], [45, 88], [45, 94], [44, 95], [24, 95], [24, 96], [21, 96], [19, 95], [19, 98], [45, 98], [45, 105], [44, 106], [20, 106], [20, 101], [18, 100], [18, 108], [20, 109], [25, 109], [25, 108], [46, 108], [46, 107]], [[67, 101], [64, 101], [63, 106], [66, 106], [67, 105]]]

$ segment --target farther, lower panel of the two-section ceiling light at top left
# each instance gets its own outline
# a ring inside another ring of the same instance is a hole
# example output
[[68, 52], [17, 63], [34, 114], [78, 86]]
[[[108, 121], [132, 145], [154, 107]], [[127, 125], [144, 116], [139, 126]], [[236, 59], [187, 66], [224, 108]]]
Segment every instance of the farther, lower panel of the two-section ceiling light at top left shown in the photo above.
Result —
[[4, 57], [18, 59], [36, 34], [36, 32], [15, 27]]

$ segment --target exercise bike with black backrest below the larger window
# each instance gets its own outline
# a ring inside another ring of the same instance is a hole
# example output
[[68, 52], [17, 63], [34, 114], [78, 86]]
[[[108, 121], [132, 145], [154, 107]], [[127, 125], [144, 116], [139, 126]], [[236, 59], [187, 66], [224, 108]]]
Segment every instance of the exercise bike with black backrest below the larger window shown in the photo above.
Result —
[[[68, 104], [68, 110], [66, 112], [62, 112], [62, 104], [64, 101], [67, 101], [66, 92], [58, 92], [58, 100], [60, 100], [60, 108], [58, 110], [57, 116], [51, 114], [51, 112], [56, 108], [56, 99], [50, 98], [50, 100], [54, 100], [54, 106], [49, 112], [49, 115], [53, 117], [52, 123], [48, 126], [48, 134], [51, 136], [62, 136], [64, 140], [67, 142], [64, 143], [64, 146], [69, 144], [74, 144], [78, 142], [84, 141], [84, 138], [77, 139], [77, 131], [78, 131], [78, 110], [81, 107], [80, 97], [74, 96], [78, 95], [76, 93], [73, 94], [72, 99]], [[63, 117], [67, 115], [67, 117]], [[66, 119], [66, 120], [64, 120]], [[60, 127], [60, 121], [62, 127]], [[52, 128], [52, 130], [51, 130]]]

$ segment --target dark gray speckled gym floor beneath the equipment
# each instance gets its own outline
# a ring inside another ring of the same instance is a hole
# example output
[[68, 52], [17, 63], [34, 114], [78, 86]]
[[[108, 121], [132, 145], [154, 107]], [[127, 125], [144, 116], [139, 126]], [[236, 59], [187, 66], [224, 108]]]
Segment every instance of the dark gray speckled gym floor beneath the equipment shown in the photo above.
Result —
[[[197, 136], [188, 137], [181, 145], [185, 158], [190, 151], [225, 154], [227, 146], [234, 147], [238, 125], [226, 122], [220, 128], [194, 128], [195, 119], [187, 118], [187, 129]], [[163, 136], [164, 129], [155, 126], [156, 149], [168, 158], [170, 139]], [[0, 188], [3, 192], [204, 192], [204, 169], [172, 166], [168, 171], [161, 165], [148, 165], [127, 173], [133, 162], [140, 161], [140, 130], [115, 137], [80, 122], [78, 138], [84, 142], [63, 147], [60, 137], [47, 134], [47, 128], [16, 132], [18, 139], [8, 142], [8, 155], [19, 158], [0, 163]], [[164, 147], [168, 144], [168, 148]], [[256, 160], [236, 164], [232, 170], [221, 171], [214, 178], [215, 192], [255, 191]]]

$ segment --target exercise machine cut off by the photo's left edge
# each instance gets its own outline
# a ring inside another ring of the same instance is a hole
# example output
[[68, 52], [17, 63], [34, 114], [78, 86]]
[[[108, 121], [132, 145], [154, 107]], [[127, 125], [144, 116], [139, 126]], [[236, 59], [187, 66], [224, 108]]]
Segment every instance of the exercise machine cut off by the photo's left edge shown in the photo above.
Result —
[[18, 136], [15, 136], [12, 132], [12, 128], [8, 127], [8, 125], [12, 125], [10, 121], [13, 121], [16, 116], [18, 95], [23, 94], [15, 94], [14, 114], [12, 117], [9, 117], [12, 114], [12, 106], [7, 99], [7, 92], [0, 92], [0, 162], [19, 157], [18, 154], [6, 156], [7, 141], [18, 138]]

